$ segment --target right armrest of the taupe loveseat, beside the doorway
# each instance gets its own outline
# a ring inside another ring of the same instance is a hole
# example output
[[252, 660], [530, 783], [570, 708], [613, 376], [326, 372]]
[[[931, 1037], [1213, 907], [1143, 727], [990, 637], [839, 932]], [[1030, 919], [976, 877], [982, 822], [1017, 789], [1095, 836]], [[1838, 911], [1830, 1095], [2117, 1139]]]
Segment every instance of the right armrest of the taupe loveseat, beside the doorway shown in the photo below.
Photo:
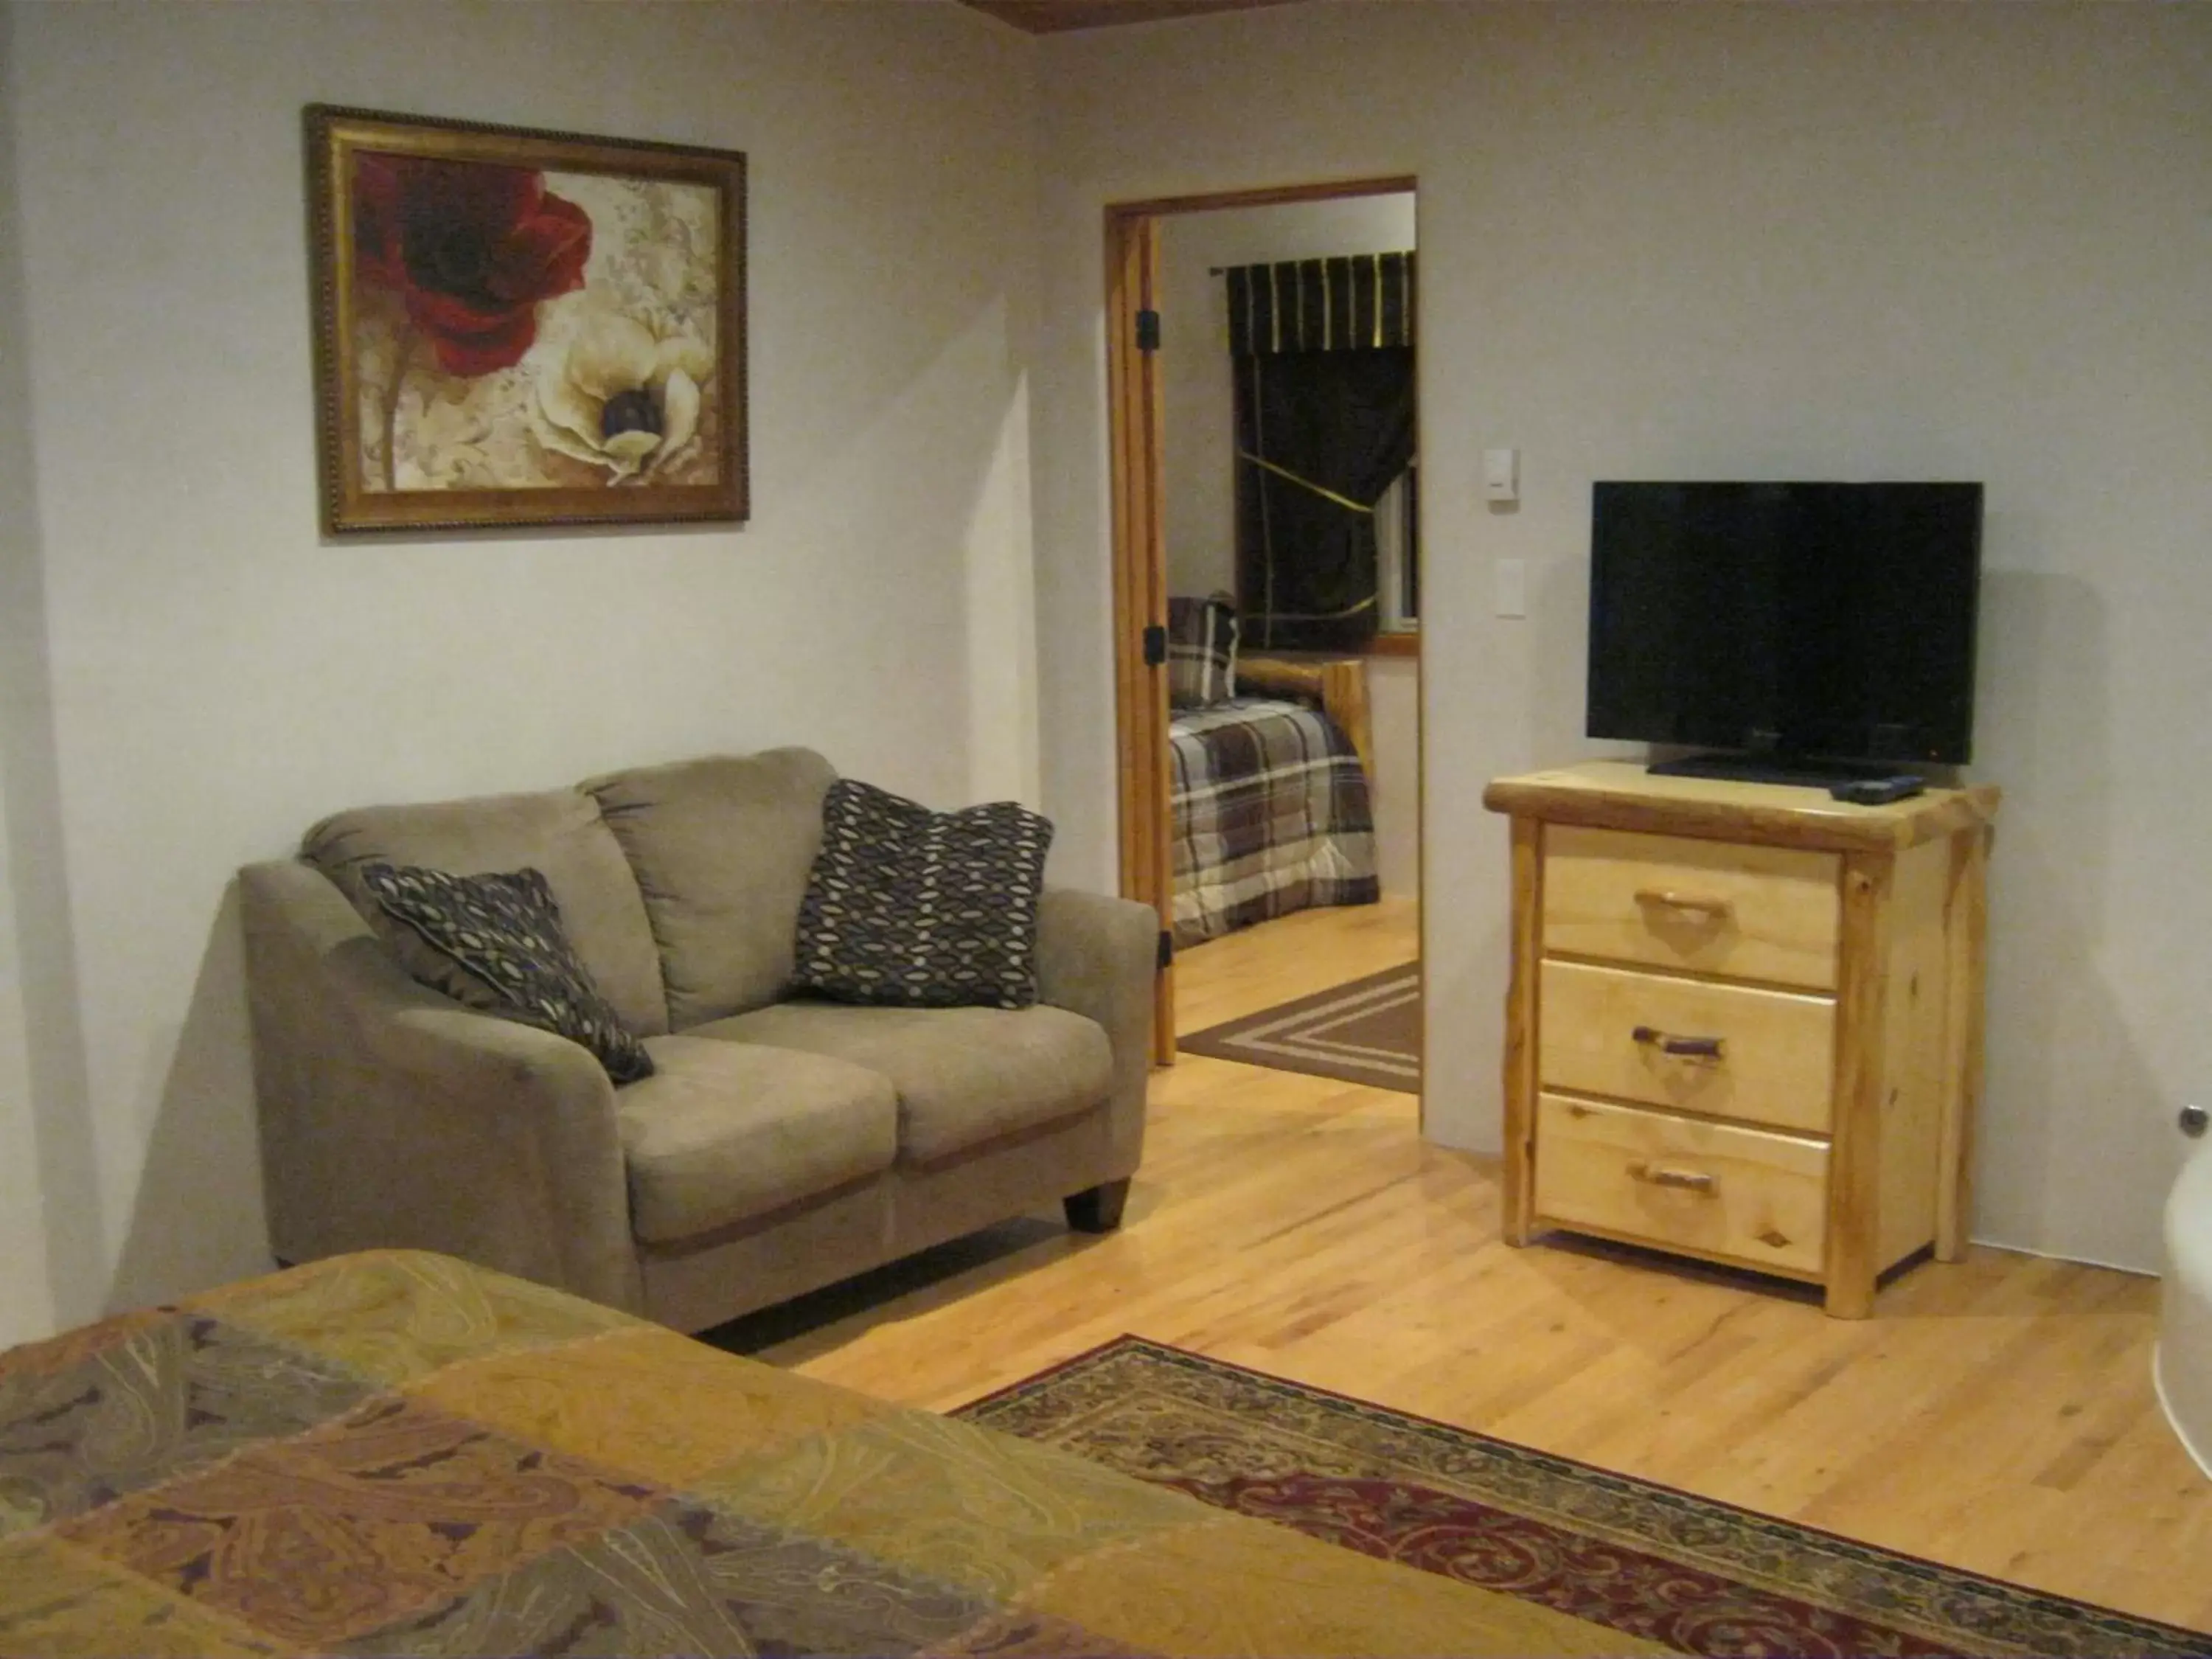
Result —
[[1130, 898], [1046, 887], [1037, 905], [1037, 998], [1106, 1026], [1113, 1044], [1113, 1179], [1144, 1150], [1144, 1097], [1152, 1075], [1152, 975], [1159, 911]]

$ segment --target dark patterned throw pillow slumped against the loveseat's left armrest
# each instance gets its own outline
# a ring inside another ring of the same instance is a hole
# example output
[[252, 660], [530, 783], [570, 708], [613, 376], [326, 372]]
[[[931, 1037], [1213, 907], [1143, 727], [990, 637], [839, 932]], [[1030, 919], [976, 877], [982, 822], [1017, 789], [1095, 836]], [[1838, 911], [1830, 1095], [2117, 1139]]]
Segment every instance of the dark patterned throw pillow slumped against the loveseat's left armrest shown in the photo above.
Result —
[[617, 1084], [653, 1075], [646, 1046], [599, 995], [560, 925], [553, 889], [535, 869], [449, 876], [442, 869], [361, 867], [378, 909], [451, 964], [425, 980], [456, 1002], [573, 1037]]

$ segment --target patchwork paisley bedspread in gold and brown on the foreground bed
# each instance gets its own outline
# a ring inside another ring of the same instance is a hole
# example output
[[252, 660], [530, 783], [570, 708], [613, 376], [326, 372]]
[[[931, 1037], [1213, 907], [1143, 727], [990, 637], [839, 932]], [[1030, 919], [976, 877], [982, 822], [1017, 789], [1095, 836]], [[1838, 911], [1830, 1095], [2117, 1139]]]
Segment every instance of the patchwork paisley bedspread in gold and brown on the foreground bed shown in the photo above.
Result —
[[449, 1256], [0, 1354], [0, 1655], [1635, 1646]]

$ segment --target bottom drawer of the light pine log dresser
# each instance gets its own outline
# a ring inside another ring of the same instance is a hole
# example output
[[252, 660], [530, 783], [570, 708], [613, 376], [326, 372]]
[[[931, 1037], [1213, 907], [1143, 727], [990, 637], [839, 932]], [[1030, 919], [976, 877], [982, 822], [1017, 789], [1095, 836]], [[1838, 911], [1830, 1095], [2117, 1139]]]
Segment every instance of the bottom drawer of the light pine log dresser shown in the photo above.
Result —
[[1816, 1276], [1827, 1146], [1540, 1095], [1535, 1219]]

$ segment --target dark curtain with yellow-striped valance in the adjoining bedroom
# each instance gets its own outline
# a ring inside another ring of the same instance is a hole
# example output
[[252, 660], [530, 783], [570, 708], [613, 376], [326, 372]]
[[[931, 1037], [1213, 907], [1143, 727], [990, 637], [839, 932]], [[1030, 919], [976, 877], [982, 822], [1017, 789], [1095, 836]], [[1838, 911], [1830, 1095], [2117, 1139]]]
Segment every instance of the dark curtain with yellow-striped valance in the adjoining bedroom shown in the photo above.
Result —
[[1358, 648], [1380, 622], [1374, 504], [1413, 458], [1413, 257], [1228, 276], [1243, 639]]

